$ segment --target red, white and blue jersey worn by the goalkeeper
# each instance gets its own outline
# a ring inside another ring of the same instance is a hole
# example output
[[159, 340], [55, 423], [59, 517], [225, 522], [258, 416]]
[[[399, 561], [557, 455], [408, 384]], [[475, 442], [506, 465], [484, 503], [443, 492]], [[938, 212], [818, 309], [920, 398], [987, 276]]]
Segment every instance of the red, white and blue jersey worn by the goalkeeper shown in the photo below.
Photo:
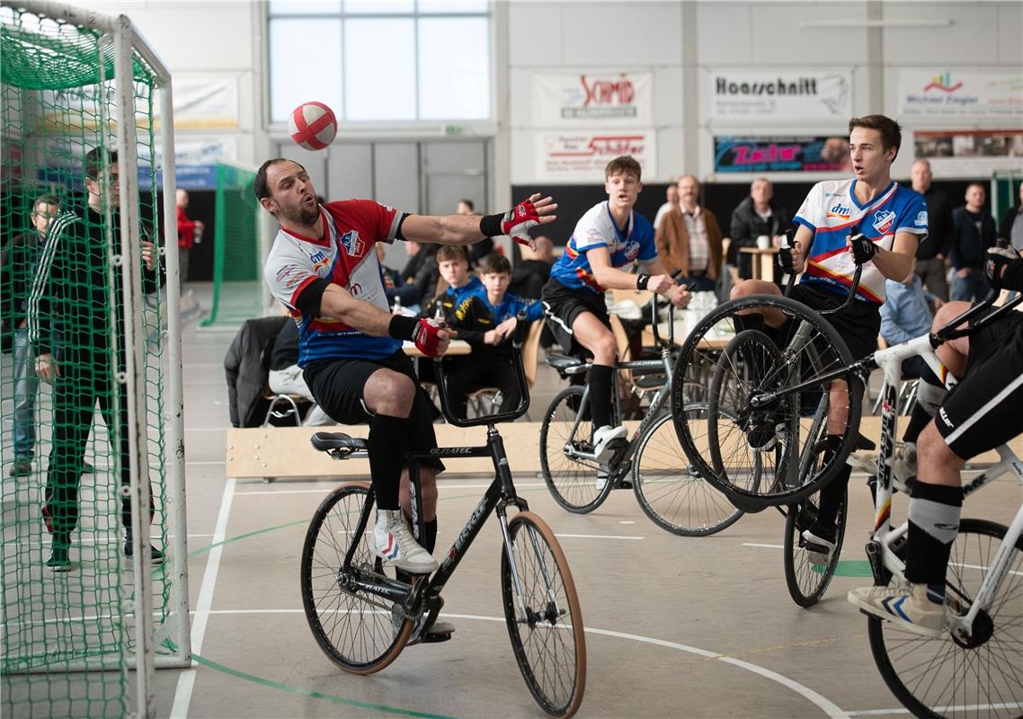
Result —
[[331, 317], [304, 313], [299, 297], [317, 278], [338, 284], [352, 297], [389, 311], [375, 243], [392, 242], [402, 214], [369, 199], [346, 199], [320, 206], [325, 228], [319, 238], [277, 232], [263, 276], [270, 291], [299, 323], [299, 366], [322, 359], [384, 359], [401, 341], [374, 338]]

